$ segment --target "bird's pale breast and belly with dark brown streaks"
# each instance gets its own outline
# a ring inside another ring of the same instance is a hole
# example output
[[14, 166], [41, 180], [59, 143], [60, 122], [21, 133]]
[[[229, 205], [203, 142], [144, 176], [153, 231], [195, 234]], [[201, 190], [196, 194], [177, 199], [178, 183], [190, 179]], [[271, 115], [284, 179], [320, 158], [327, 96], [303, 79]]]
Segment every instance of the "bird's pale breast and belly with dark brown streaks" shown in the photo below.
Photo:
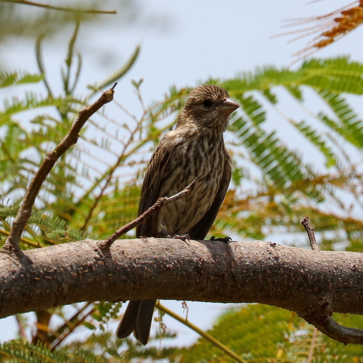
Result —
[[165, 225], [166, 234], [188, 233], [202, 219], [217, 195], [227, 162], [223, 139], [213, 143], [199, 140], [178, 145], [163, 172], [159, 197], [172, 196], [195, 177], [198, 179], [192, 192], [165, 205], [156, 216], [155, 222]]

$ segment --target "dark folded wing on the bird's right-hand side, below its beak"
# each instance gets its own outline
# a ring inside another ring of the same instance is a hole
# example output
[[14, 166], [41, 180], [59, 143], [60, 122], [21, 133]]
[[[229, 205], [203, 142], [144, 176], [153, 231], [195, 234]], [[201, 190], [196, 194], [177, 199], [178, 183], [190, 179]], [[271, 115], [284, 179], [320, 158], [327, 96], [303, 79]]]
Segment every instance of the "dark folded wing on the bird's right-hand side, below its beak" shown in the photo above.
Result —
[[221, 207], [222, 201], [226, 195], [229, 182], [231, 180], [231, 166], [226, 162], [225, 168], [223, 170], [221, 185], [219, 186], [217, 195], [213, 201], [213, 204], [205, 213], [203, 218], [191, 229], [189, 236], [193, 240], [203, 240], [208, 233], [210, 227], [217, 216], [219, 207]]

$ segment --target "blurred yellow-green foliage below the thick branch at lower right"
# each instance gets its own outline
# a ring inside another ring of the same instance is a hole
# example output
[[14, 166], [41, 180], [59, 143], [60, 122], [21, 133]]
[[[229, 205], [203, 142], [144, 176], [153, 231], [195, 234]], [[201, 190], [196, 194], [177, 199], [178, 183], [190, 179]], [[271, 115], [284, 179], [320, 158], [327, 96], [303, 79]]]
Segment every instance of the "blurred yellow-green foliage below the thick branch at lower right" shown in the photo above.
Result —
[[[357, 326], [355, 317], [347, 314], [334, 319]], [[361, 322], [362, 317], [358, 318]], [[208, 334], [247, 362], [304, 363], [311, 346], [312, 362], [363, 362], [361, 346], [338, 343], [314, 331], [297, 314], [262, 304], [243, 304], [226, 311]], [[185, 363], [234, 362], [202, 338], [190, 348], [181, 348], [179, 357]]]

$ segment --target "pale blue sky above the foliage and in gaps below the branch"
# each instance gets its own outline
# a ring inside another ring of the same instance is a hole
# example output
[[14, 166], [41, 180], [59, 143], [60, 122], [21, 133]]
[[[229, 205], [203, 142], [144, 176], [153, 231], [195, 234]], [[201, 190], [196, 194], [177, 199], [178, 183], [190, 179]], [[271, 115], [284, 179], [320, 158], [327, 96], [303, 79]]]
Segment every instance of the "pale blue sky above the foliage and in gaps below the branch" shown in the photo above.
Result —
[[[149, 105], [162, 99], [172, 85], [194, 86], [208, 77], [227, 79], [238, 72], [254, 70], [256, 66], [289, 65], [292, 61], [290, 55], [302, 49], [313, 36], [292, 44], [287, 44], [292, 36], [270, 39], [270, 36], [283, 31], [281, 19], [323, 15], [346, 3], [348, 0], [325, 0], [311, 5], [305, 5], [304, 0], [140, 1], [142, 15], [135, 25], [122, 26], [121, 20], [118, 20], [121, 19], [122, 9], [117, 9], [118, 15], [104, 15], [104, 21], [100, 23], [81, 25], [76, 48], [82, 54], [83, 66], [76, 91], [85, 93], [87, 84], [100, 81], [119, 68], [136, 44], [141, 43], [136, 64], [117, 85], [114, 96], [128, 110], [140, 114], [142, 111], [130, 85], [131, 79], [144, 79], [141, 92], [145, 104]], [[112, 9], [112, 6], [104, 8]], [[359, 28], [315, 56], [349, 54], [352, 60], [362, 61], [362, 31]], [[70, 26], [44, 41], [47, 79], [55, 94], [61, 87], [59, 70], [63, 66], [61, 62], [72, 32], [73, 26]], [[25, 37], [8, 38], [0, 45], [4, 68], [37, 73], [34, 43], [33, 39]], [[292, 68], [299, 65], [301, 62]], [[6, 90], [9, 91], [12, 89]], [[0, 97], [3, 96], [4, 93], [0, 93]], [[351, 102], [362, 114], [360, 97], [353, 97]], [[284, 111], [288, 112], [286, 108]], [[291, 112], [295, 110], [291, 109]], [[286, 134], [286, 139], [291, 139], [291, 135]], [[294, 139], [290, 141], [295, 142]], [[163, 303], [182, 315], [180, 302]], [[188, 305], [189, 320], [202, 329], [211, 327], [213, 319], [225, 307], [211, 303]], [[13, 317], [0, 321], [1, 341], [14, 337], [14, 322]], [[178, 342], [181, 344], [191, 343], [197, 338], [196, 334], [172, 318], [166, 317], [165, 323], [180, 331]], [[115, 330], [116, 326], [115, 322], [110, 328]], [[154, 323], [154, 326], [157, 327], [157, 324]]]

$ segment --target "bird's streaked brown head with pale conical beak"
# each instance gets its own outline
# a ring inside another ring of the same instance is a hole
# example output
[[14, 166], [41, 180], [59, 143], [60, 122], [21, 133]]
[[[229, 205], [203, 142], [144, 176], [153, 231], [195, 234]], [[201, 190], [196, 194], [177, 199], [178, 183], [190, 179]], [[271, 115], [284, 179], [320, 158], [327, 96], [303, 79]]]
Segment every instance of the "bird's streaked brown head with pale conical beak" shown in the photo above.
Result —
[[219, 86], [203, 84], [194, 88], [181, 111], [177, 127], [193, 124], [199, 130], [224, 132], [230, 114], [239, 107]]

